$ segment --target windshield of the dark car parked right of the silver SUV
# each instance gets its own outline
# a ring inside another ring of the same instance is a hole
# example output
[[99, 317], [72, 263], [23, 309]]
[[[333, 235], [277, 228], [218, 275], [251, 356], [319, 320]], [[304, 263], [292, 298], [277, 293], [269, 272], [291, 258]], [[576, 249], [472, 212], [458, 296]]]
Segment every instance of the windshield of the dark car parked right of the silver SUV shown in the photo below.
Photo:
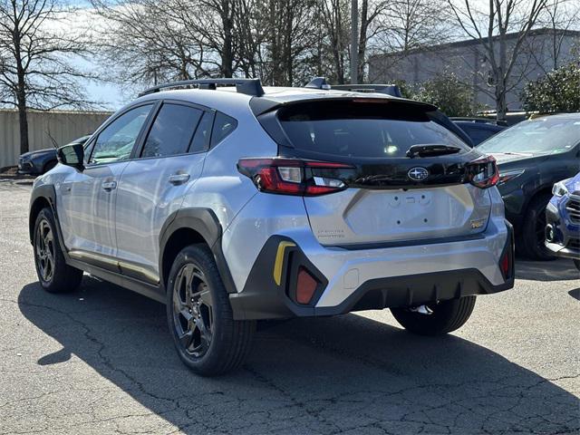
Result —
[[580, 119], [546, 117], [522, 121], [478, 146], [485, 153], [557, 154], [580, 142]]

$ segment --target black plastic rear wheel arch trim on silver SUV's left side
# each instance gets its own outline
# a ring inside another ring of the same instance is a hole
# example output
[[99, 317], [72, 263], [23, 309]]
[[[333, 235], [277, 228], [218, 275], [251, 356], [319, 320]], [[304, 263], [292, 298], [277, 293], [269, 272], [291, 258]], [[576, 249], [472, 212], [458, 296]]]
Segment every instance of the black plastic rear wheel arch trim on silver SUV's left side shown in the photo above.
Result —
[[218, 217], [211, 208], [181, 208], [169, 215], [160, 231], [160, 285], [164, 286], [166, 277], [163, 271], [163, 256], [169, 238], [179, 229], [188, 228], [196, 231], [211, 249], [219, 275], [227, 293], [237, 293], [236, 285], [227, 267], [226, 258], [221, 248], [223, 230]]

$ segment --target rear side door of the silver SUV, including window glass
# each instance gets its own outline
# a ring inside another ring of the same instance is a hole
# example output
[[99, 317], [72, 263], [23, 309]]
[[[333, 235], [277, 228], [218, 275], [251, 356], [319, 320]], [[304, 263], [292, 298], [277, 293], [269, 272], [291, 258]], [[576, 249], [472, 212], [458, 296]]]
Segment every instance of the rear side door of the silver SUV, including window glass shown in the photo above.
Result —
[[123, 171], [115, 220], [125, 275], [158, 283], [160, 230], [201, 174], [213, 118], [213, 111], [195, 105], [163, 102], [139, 158]]

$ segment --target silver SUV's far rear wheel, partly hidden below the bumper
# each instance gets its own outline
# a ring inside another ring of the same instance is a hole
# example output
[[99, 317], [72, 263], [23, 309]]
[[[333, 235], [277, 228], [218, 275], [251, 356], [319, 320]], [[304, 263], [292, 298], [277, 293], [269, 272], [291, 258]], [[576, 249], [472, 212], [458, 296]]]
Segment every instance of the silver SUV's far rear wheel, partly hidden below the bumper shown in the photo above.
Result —
[[440, 335], [455, 331], [468, 321], [475, 306], [475, 297], [465, 296], [428, 304], [431, 314], [420, 314], [408, 308], [391, 308], [391, 313], [411, 333]]

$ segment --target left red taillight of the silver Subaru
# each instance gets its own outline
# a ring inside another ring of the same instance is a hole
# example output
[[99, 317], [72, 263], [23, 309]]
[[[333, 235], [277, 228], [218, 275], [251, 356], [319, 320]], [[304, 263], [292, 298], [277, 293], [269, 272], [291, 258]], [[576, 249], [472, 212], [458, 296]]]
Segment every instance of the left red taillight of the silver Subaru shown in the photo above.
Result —
[[237, 170], [269, 193], [312, 197], [346, 189], [337, 171], [354, 169], [344, 163], [299, 159], [240, 159]]

